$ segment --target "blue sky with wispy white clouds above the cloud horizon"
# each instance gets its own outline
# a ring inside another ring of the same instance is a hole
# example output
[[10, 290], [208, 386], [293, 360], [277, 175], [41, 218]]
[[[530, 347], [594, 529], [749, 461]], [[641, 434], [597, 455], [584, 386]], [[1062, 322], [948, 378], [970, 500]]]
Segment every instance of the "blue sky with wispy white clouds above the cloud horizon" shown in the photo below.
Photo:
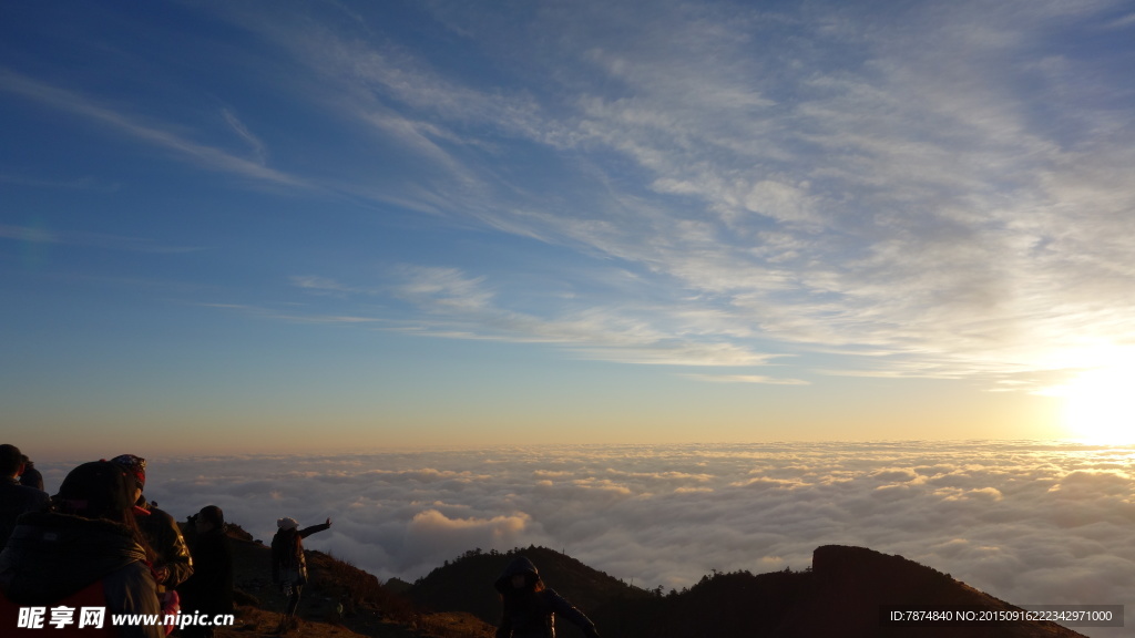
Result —
[[1132, 68], [1109, 0], [6, 2], [2, 430], [1128, 443]]

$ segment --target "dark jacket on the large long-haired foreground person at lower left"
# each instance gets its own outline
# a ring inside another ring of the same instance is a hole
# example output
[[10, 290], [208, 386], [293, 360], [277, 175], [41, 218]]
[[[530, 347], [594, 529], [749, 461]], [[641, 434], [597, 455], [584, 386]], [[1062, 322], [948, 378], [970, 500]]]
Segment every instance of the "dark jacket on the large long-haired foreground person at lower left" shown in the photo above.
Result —
[[[32, 512], [0, 553], [0, 589], [23, 606], [51, 606], [100, 581], [112, 614], [160, 614], [145, 552], [131, 530], [106, 520]], [[162, 638], [158, 626], [124, 626], [121, 638]]]

